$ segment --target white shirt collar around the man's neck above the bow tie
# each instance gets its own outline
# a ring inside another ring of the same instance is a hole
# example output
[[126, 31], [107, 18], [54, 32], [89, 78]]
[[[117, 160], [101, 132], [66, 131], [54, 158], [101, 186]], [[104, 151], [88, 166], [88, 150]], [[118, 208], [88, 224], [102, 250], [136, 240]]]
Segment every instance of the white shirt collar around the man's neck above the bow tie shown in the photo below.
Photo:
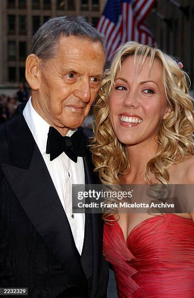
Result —
[[[50, 125], [35, 111], [32, 106], [31, 97], [23, 110], [23, 116], [33, 134], [41, 154], [43, 155], [47, 148], [47, 137]], [[66, 135], [71, 136], [76, 130], [77, 129], [69, 130]]]

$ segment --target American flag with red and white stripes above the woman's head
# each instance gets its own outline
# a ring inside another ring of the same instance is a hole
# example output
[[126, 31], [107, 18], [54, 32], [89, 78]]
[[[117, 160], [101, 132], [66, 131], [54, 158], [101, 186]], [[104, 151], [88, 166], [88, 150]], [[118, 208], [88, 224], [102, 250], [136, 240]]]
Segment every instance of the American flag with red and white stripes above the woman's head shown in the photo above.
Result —
[[155, 0], [107, 0], [97, 29], [105, 35], [107, 56], [127, 41], [154, 45], [156, 41], [143, 23]]

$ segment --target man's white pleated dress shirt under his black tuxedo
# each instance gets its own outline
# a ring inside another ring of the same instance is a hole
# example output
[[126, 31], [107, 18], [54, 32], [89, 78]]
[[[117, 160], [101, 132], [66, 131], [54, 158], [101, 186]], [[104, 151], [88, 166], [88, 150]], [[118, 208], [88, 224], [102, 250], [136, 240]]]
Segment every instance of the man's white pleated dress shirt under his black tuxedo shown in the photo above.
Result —
[[[71, 190], [72, 184], [85, 184], [83, 158], [78, 156], [77, 163], [74, 163], [63, 152], [53, 161], [50, 161], [50, 154], [46, 154], [47, 136], [50, 125], [35, 111], [31, 103], [31, 98], [24, 108], [23, 116], [49, 170], [70, 223], [75, 245], [81, 255], [84, 243], [85, 214], [72, 214]], [[67, 136], [71, 136], [74, 132], [75, 130], [69, 130]]]

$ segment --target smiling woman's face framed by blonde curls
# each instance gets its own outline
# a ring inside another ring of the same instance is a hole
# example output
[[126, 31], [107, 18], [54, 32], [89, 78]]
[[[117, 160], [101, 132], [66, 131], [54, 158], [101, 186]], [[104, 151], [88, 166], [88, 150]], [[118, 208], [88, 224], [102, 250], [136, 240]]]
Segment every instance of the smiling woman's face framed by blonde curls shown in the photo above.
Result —
[[152, 141], [163, 119], [169, 115], [162, 81], [162, 65], [155, 59], [149, 73], [149, 58], [142, 68], [127, 57], [117, 72], [110, 93], [109, 115], [120, 142], [135, 145]]

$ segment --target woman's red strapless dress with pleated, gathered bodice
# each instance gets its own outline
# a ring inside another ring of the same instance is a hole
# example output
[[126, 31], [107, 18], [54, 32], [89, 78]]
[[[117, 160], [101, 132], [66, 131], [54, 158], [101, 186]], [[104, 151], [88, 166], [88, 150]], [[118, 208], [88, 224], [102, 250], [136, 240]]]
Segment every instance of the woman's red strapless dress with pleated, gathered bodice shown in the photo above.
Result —
[[191, 219], [174, 214], [148, 218], [126, 242], [117, 222], [105, 223], [104, 255], [113, 266], [119, 298], [194, 298]]

